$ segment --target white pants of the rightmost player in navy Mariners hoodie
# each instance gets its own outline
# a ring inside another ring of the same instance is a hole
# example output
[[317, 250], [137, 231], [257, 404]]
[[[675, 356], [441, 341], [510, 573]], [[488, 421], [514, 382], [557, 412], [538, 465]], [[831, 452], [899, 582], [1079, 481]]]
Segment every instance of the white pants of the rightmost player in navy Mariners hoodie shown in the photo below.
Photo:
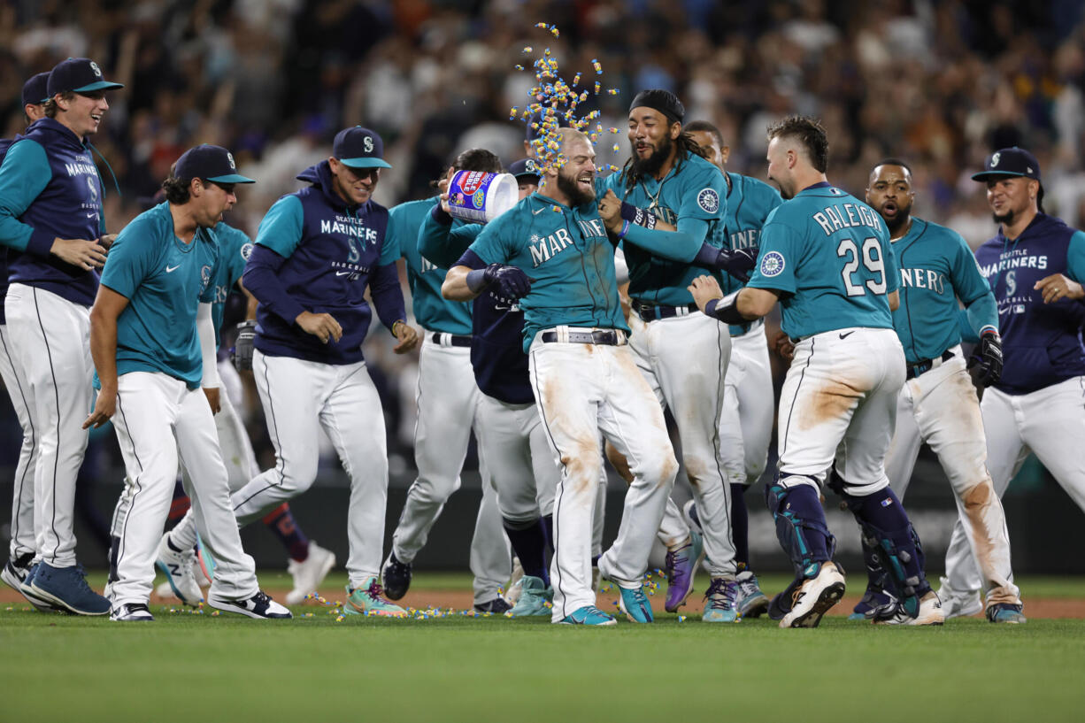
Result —
[[[1074, 377], [1029, 394], [988, 388], [980, 410], [987, 433], [987, 469], [999, 498], [1030, 452], [1085, 510], [1085, 456], [1075, 445], [1085, 440], [1085, 377]], [[980, 571], [958, 517], [946, 550], [946, 578], [954, 592], [981, 588]]]

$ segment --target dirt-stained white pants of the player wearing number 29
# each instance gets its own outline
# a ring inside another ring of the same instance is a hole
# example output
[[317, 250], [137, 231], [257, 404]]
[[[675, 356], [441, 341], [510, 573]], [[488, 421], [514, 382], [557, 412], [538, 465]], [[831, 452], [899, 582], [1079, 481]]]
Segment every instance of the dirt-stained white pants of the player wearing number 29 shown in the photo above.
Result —
[[889, 486], [904, 365], [892, 329], [837, 329], [795, 344], [780, 392], [780, 485], [820, 486], [835, 462], [853, 495]]

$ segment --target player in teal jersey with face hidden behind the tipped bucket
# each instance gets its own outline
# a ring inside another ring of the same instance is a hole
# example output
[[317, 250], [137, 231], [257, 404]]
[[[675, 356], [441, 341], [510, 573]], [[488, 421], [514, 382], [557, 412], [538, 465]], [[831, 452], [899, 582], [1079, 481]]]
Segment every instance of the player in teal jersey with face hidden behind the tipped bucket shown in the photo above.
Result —
[[[461, 153], [452, 168], [499, 173], [501, 162], [489, 151], [473, 149]], [[391, 242], [407, 261], [414, 318], [423, 329], [414, 430], [418, 478], [407, 492], [382, 572], [384, 592], [393, 600], [407, 593], [411, 563], [425, 545], [445, 502], [460, 486], [459, 474], [478, 404], [478, 388], [471, 373], [471, 306], [442, 297], [447, 265], [436, 267], [418, 252], [419, 228], [436, 205], [431, 198], [401, 203], [388, 212], [395, 234]], [[511, 607], [499, 589], [509, 580], [512, 561], [501, 530], [497, 492], [485, 482], [486, 464], [481, 456], [482, 504], [471, 541], [474, 609], [501, 613]]]

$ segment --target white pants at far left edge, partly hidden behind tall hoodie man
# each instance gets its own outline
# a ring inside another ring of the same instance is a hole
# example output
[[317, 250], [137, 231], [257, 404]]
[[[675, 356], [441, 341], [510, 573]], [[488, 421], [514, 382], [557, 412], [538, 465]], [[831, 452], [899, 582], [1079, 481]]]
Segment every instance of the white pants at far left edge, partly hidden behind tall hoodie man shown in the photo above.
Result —
[[[2, 303], [2, 302], [0, 302]], [[8, 326], [0, 325], [0, 379], [15, 408], [18, 426], [23, 428], [23, 444], [15, 465], [14, 487], [11, 496], [11, 558], [33, 554], [37, 549], [34, 538], [34, 467], [38, 458], [35, 444], [37, 435], [30, 420], [34, 397], [30, 384], [23, 376], [23, 367], [15, 364], [14, 350]]]

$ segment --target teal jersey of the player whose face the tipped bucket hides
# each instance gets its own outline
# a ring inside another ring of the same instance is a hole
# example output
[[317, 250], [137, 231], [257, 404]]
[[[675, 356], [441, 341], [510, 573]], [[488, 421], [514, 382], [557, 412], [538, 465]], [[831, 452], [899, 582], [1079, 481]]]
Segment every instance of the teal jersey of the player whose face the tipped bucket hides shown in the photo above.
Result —
[[444, 268], [438, 268], [418, 252], [418, 237], [422, 221], [437, 204], [437, 199], [408, 201], [388, 210], [388, 232], [384, 243], [396, 244], [407, 261], [407, 281], [410, 283], [414, 318], [423, 328], [450, 334], [471, 333], [471, 304], [450, 302], [441, 295], [445, 282]]

